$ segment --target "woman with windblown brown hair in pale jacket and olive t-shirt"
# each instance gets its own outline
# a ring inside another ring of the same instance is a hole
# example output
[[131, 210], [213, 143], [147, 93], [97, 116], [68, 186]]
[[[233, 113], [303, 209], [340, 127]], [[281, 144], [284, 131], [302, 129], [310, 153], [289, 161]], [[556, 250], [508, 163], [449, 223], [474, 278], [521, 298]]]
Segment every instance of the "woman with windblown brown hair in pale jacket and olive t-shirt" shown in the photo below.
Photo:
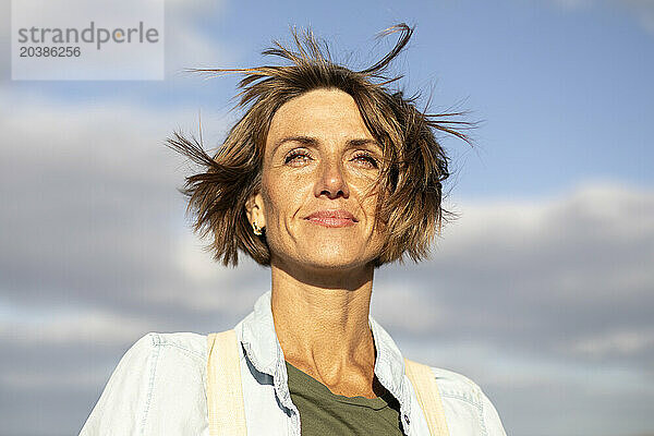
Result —
[[[310, 33], [293, 33], [296, 51], [278, 43], [264, 51], [290, 65], [196, 70], [246, 74], [247, 110], [213, 157], [180, 134], [169, 140], [206, 167], [184, 190], [195, 230], [213, 235], [225, 265], [242, 251], [268, 266], [271, 289], [234, 327], [240, 382], [227, 376], [222, 386], [207, 366], [229, 361], [229, 341], [146, 335], [121, 360], [83, 435], [238, 433], [238, 420], [216, 424], [211, 410], [240, 410], [250, 435], [429, 434], [421, 384], [370, 316], [373, 277], [404, 255], [426, 257], [446, 214], [447, 157], [434, 130], [467, 137], [388, 90], [395, 78], [384, 72], [413, 31], [400, 24], [386, 34], [396, 32], [395, 48], [363, 71], [335, 64]], [[428, 372], [441, 434], [505, 435], [474, 383]], [[228, 401], [217, 391], [237, 393]]]

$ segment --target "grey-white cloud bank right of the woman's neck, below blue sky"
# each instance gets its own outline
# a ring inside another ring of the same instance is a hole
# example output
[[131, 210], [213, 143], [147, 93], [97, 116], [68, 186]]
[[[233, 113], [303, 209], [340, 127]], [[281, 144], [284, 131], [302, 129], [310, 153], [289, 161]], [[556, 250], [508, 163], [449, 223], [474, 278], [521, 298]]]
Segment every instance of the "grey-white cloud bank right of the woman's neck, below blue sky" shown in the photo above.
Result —
[[[374, 307], [390, 328], [647, 366], [653, 192], [592, 182], [549, 198], [461, 202], [458, 209], [429, 262], [378, 274]], [[608, 331], [603, 347], [600, 331]]]

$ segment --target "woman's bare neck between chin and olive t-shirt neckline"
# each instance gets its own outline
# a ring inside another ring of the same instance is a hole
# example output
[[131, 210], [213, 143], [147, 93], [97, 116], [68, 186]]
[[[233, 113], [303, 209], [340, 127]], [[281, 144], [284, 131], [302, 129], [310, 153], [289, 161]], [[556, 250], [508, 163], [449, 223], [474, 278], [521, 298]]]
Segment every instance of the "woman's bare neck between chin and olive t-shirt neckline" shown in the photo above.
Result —
[[380, 396], [368, 326], [373, 269], [338, 275], [328, 287], [325, 278], [317, 286], [275, 266], [271, 275], [275, 331], [284, 359], [334, 393]]

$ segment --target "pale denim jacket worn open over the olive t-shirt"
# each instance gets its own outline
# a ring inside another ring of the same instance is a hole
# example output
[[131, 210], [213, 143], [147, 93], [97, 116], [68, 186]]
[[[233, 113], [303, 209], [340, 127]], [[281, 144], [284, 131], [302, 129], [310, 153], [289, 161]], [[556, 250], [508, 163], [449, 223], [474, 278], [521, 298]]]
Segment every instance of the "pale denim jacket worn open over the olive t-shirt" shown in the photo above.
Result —
[[[234, 327], [240, 348], [249, 435], [300, 435], [281, 347], [275, 334], [270, 294], [263, 294]], [[427, 436], [404, 362], [390, 336], [368, 318], [377, 356], [375, 375], [399, 401], [405, 435]], [[150, 332], [121, 359], [81, 436], [209, 436], [206, 399], [207, 337]], [[432, 367], [450, 436], [506, 436], [480, 387], [467, 377]]]

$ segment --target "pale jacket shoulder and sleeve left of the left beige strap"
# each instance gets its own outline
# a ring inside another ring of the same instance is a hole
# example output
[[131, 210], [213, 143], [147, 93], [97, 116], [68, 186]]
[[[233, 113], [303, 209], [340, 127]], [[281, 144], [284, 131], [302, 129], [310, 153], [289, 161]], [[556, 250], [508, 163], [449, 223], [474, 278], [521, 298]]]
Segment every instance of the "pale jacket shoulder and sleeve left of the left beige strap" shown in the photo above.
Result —
[[203, 434], [206, 350], [204, 335], [141, 337], [121, 358], [81, 435]]

